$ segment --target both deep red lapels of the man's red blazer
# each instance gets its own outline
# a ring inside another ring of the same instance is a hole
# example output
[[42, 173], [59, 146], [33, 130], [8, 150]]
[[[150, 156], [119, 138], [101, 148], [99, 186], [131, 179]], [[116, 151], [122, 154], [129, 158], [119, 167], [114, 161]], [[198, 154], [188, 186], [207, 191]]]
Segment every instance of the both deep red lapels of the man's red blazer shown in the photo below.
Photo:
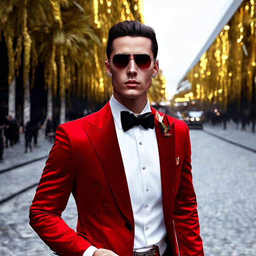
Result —
[[[151, 106], [150, 108], [152, 114], [155, 114], [156, 110]], [[163, 135], [159, 122], [155, 118], [165, 223], [170, 221], [169, 197], [174, 187], [176, 167], [174, 122], [169, 119], [169, 123], [172, 136], [167, 137]], [[83, 120], [83, 126], [105, 171], [118, 207], [124, 216], [134, 224], [128, 184], [109, 101], [100, 111], [87, 116]]]

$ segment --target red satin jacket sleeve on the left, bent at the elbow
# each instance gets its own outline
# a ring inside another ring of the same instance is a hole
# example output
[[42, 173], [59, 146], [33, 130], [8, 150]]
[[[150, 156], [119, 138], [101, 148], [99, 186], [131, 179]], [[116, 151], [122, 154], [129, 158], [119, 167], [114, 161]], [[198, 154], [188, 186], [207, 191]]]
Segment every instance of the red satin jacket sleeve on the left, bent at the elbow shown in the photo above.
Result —
[[56, 255], [82, 256], [91, 246], [61, 218], [74, 182], [73, 143], [67, 129], [59, 125], [29, 210], [30, 226]]

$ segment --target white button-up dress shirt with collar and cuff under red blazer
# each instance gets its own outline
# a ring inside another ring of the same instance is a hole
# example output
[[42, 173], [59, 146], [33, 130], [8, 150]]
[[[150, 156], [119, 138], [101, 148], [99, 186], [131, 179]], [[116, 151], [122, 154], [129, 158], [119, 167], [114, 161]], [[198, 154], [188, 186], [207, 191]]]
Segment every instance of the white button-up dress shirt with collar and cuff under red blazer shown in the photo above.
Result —
[[[160, 255], [166, 250], [167, 234], [162, 203], [159, 153], [154, 129], [141, 125], [123, 131], [121, 111], [131, 110], [111, 96], [110, 108], [114, 117], [117, 139], [122, 155], [134, 217], [134, 250], [158, 245]], [[140, 114], [151, 112], [149, 99]], [[134, 114], [134, 113], [133, 113]], [[139, 113], [137, 113], [139, 114]], [[83, 256], [92, 256], [97, 250], [90, 246]]]

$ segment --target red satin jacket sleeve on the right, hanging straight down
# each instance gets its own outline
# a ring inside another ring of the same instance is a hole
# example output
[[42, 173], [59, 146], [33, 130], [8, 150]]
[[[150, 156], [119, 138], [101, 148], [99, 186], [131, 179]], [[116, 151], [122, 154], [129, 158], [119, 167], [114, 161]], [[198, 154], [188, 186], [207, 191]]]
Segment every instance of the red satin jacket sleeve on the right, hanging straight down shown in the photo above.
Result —
[[[183, 121], [184, 122], [184, 121]], [[203, 244], [199, 235], [197, 202], [191, 173], [191, 145], [186, 127], [184, 160], [181, 167], [180, 185], [177, 191], [173, 222], [180, 256], [203, 256]]]

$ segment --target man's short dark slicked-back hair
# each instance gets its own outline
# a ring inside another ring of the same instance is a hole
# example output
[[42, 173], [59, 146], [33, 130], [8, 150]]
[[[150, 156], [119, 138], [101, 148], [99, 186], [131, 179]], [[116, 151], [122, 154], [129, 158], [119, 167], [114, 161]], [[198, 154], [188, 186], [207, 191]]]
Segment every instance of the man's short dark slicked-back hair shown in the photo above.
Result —
[[110, 54], [113, 51], [113, 40], [121, 36], [143, 36], [151, 39], [151, 50], [154, 58], [157, 56], [158, 45], [156, 41], [156, 33], [153, 28], [146, 26], [136, 20], [124, 20], [113, 25], [108, 31], [107, 43], [107, 58], [110, 59]]

